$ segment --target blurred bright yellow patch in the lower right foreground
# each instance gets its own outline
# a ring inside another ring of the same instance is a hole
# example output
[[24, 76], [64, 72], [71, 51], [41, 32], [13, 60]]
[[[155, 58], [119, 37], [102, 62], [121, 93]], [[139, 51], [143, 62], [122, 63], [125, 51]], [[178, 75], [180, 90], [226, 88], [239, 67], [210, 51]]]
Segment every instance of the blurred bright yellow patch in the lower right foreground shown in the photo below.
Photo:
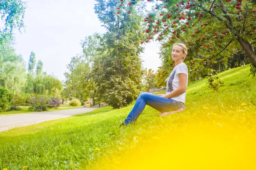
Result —
[[255, 134], [248, 129], [220, 124], [181, 127], [144, 139], [134, 136], [127, 152], [118, 151], [113, 159], [99, 161], [104, 167], [95, 169], [250, 170], [256, 169], [255, 144]]

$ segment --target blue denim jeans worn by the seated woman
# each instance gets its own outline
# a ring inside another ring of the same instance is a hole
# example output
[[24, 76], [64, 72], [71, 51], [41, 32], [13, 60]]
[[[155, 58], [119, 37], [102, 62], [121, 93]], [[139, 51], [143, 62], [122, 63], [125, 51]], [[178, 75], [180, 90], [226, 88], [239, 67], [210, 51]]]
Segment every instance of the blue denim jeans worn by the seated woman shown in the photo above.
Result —
[[157, 96], [155, 94], [142, 92], [138, 97], [134, 108], [128, 114], [125, 119], [125, 124], [133, 123], [140, 116], [140, 113], [143, 112], [146, 105], [151, 106], [157, 111], [169, 112], [169, 111], [177, 111], [181, 108], [185, 108], [185, 105], [182, 102], [177, 102], [173, 99], [166, 99], [162, 96]]

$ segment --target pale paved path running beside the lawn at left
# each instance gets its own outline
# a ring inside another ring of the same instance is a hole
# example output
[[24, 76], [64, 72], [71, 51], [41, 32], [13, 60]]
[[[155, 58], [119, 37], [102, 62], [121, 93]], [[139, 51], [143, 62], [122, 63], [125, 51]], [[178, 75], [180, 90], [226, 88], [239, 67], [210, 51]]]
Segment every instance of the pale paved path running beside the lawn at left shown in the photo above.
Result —
[[33, 125], [54, 119], [61, 119], [76, 114], [88, 113], [95, 110], [98, 106], [92, 108], [75, 108], [61, 111], [45, 111], [24, 114], [12, 114], [0, 116], [0, 132], [15, 127]]

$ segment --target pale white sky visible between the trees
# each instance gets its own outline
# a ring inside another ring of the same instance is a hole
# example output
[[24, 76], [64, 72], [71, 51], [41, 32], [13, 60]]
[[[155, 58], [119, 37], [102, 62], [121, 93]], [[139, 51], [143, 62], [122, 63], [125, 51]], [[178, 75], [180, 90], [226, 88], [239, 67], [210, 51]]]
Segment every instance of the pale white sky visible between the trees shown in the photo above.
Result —
[[[42, 60], [43, 70], [64, 80], [71, 58], [80, 53], [84, 37], [105, 33], [94, 13], [94, 0], [26, 0], [25, 31], [15, 32], [16, 53], [28, 63], [31, 51]], [[161, 65], [159, 45], [151, 42], [141, 54], [144, 68], [157, 70]]]

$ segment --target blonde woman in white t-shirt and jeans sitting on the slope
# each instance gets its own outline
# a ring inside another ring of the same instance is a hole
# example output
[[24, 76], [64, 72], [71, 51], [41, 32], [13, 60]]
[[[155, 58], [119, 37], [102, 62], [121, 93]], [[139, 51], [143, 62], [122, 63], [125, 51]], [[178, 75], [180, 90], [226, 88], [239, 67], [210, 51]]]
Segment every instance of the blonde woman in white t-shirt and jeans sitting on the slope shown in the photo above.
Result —
[[164, 116], [185, 109], [186, 88], [188, 84], [188, 68], [183, 62], [187, 54], [186, 45], [175, 43], [172, 49], [172, 59], [175, 67], [172, 70], [166, 85], [166, 94], [151, 94], [142, 92], [138, 97], [134, 108], [131, 110], [125, 122], [121, 125], [133, 123], [140, 116], [146, 105], [160, 111], [159, 116]]

